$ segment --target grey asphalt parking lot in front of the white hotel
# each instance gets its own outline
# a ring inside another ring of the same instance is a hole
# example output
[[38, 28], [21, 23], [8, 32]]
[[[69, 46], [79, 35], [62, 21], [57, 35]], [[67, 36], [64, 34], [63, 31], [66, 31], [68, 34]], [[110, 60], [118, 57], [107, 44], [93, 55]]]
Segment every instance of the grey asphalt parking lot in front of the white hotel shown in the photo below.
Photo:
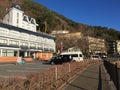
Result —
[[25, 64], [0, 64], [0, 77], [9, 77], [15, 75], [27, 75], [31, 72], [42, 72], [52, 65], [44, 62], [31, 62]]

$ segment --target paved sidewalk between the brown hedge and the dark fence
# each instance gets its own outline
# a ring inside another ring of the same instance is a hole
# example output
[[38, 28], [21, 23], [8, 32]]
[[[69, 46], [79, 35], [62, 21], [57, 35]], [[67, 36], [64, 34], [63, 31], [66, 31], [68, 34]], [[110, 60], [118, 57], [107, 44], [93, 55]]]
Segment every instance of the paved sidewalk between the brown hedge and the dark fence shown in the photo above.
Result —
[[103, 64], [94, 64], [69, 82], [63, 90], [113, 90]]

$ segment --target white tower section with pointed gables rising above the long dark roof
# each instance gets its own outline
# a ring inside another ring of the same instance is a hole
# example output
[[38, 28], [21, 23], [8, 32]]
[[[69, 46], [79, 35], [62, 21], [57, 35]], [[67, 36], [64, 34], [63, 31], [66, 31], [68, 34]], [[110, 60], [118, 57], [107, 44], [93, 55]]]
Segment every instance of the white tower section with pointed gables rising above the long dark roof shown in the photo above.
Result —
[[35, 19], [25, 15], [24, 11], [21, 10], [21, 7], [16, 4], [13, 4], [7, 11], [3, 18], [3, 23], [34, 32], [36, 32], [36, 26], [38, 26]]

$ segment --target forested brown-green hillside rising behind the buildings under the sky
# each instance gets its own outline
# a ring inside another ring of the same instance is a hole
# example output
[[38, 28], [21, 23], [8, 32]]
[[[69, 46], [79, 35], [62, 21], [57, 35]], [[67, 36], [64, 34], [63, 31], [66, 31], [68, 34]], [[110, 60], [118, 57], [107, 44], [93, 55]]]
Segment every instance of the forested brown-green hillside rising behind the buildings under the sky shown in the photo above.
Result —
[[[82, 32], [84, 35], [104, 38], [108, 40], [120, 39], [120, 32], [102, 26], [89, 26], [72, 21], [63, 15], [51, 11], [34, 0], [0, 0], [0, 18], [4, 16], [6, 9], [12, 3], [20, 4], [25, 14], [34, 17], [39, 24], [38, 31], [51, 33], [52, 30], [69, 30], [70, 32]], [[45, 29], [46, 26], [46, 29]]]

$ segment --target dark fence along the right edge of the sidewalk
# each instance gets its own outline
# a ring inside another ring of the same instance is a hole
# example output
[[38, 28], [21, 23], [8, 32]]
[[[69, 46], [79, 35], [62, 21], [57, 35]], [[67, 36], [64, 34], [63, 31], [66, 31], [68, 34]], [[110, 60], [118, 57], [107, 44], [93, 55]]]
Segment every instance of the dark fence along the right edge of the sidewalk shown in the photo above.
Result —
[[120, 90], [120, 68], [117, 67], [117, 63], [113, 64], [109, 61], [104, 60], [104, 66], [110, 75], [110, 80], [113, 81], [117, 90]]

